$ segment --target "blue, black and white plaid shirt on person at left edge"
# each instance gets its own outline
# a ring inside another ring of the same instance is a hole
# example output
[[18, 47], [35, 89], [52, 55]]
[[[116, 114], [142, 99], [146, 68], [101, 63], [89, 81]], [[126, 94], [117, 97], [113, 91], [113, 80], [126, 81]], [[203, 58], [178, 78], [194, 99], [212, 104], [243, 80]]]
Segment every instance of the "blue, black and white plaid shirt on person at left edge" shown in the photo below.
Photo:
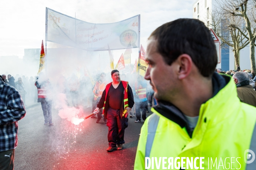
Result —
[[18, 120], [26, 114], [19, 92], [0, 79], [0, 151], [18, 144]]

